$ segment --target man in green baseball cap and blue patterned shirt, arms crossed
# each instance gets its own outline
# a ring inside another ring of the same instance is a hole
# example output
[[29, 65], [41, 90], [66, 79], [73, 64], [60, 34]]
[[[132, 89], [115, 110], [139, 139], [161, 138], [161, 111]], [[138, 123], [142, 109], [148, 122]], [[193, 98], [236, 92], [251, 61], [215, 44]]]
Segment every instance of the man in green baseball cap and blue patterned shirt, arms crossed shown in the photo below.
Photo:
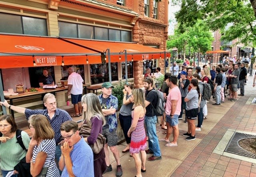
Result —
[[112, 151], [115, 159], [116, 159], [116, 176], [122, 176], [122, 167], [120, 164], [120, 155], [118, 149], [116, 147], [118, 138], [116, 133], [117, 128], [117, 118], [116, 118], [116, 110], [118, 109], [118, 99], [116, 96], [112, 95], [112, 88], [114, 86], [109, 83], [102, 84], [102, 94], [98, 96], [100, 105], [102, 108], [102, 112], [106, 119], [106, 124], [102, 127], [102, 135], [106, 138], [106, 144], [104, 146], [105, 152], [105, 161], [107, 165], [106, 172], [112, 171], [112, 166], [110, 164], [109, 159], [109, 150]]

